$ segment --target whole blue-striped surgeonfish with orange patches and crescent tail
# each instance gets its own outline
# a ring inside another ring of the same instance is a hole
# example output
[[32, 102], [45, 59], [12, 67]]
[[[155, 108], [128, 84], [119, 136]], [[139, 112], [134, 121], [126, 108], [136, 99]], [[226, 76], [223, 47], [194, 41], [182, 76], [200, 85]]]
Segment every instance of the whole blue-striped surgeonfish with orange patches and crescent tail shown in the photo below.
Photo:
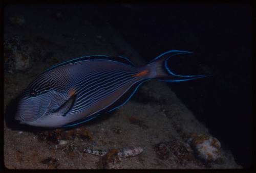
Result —
[[188, 81], [205, 75], [176, 75], [170, 57], [186, 51], [168, 51], [145, 66], [125, 57], [86, 56], [60, 63], [42, 72], [20, 97], [15, 119], [39, 127], [70, 127], [124, 105], [145, 81]]

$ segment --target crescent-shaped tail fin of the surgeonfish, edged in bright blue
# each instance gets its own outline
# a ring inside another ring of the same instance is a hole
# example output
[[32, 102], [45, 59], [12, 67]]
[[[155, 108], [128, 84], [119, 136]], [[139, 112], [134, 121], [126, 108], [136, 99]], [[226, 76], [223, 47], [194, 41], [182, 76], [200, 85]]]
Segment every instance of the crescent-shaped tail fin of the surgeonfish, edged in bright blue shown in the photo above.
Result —
[[147, 67], [151, 71], [151, 78], [166, 82], [181, 82], [198, 78], [208, 77], [207, 75], [176, 75], [168, 66], [169, 58], [179, 54], [190, 54], [188, 51], [168, 51], [153, 59]]

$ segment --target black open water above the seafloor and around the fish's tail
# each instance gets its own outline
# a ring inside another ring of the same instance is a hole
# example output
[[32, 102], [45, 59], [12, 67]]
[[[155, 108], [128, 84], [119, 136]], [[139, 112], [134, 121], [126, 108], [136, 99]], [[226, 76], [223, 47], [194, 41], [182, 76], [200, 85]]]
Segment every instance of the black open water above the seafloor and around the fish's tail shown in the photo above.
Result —
[[[42, 11], [52, 7], [46, 5]], [[232, 152], [238, 164], [251, 166], [252, 23], [249, 5], [120, 4], [55, 5], [54, 8], [74, 19], [88, 20], [96, 27], [115, 28], [146, 61], [169, 50], [194, 52], [173, 58], [172, 70], [184, 75], [210, 73], [214, 76], [168, 85], [222, 146]], [[72, 30], [76, 26], [67, 27]]]

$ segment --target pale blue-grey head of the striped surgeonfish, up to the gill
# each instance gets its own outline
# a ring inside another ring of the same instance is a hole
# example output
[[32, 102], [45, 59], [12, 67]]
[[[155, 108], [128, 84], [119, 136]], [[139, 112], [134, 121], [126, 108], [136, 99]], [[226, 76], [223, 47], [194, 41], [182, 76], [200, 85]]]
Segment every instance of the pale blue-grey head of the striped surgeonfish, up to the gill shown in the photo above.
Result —
[[60, 94], [52, 91], [38, 93], [35, 90], [25, 92], [19, 100], [15, 119], [19, 123], [37, 127], [55, 128], [64, 125], [68, 118], [62, 116], [62, 112], [68, 109], [66, 105], [58, 109], [59, 105], [65, 103], [65, 98], [56, 98], [56, 95]]

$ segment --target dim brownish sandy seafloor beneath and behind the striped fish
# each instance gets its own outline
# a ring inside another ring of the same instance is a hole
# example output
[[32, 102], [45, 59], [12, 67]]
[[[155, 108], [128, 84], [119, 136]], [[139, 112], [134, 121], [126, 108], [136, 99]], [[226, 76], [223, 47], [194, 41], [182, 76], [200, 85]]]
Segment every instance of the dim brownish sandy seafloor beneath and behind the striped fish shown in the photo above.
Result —
[[[27, 53], [36, 57], [33, 57], [32, 66], [26, 71], [5, 71], [4, 107], [7, 119], [14, 114], [14, 98], [39, 73], [52, 65], [86, 55], [122, 55], [138, 65], [146, 63], [133, 46], [108, 24], [96, 27], [86, 18], [76, 18], [63, 12], [58, 14], [58, 11], [51, 9], [45, 10], [40, 17], [31, 17], [30, 13], [33, 11], [12, 8], [5, 11], [5, 40], [19, 36], [33, 50]], [[11, 22], [10, 17], [16, 14], [23, 16], [25, 23]], [[36, 9], [33, 14], [37, 14]], [[5, 166], [10, 169], [242, 168], [228, 149], [222, 147], [220, 158], [207, 163], [199, 159], [195, 151], [193, 157], [186, 157], [186, 152], [184, 157], [179, 157], [170, 151], [160, 151], [167, 153], [164, 157], [157, 155], [159, 149], [156, 146], [161, 142], [187, 143], [191, 134], [210, 136], [207, 127], [164, 82], [152, 80], [142, 84], [124, 106], [101, 116], [78, 127], [84, 131], [80, 136], [75, 134], [76, 128], [63, 130], [66, 132], [38, 132], [34, 127], [18, 128], [5, 121]], [[131, 146], [143, 146], [143, 152], [135, 157], [112, 160], [111, 163], [103, 163], [102, 157], [82, 152], [83, 147], [108, 150]]]

